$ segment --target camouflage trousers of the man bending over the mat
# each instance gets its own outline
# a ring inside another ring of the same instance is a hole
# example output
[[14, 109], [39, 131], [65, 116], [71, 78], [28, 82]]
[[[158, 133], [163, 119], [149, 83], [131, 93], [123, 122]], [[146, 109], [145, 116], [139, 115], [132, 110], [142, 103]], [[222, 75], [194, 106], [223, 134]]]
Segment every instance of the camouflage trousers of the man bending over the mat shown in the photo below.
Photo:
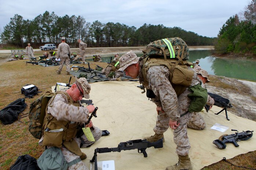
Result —
[[[190, 105], [190, 99], [187, 97], [187, 95], [191, 93], [188, 89], [184, 91], [182, 94], [178, 96], [178, 112], [179, 114], [186, 113], [189, 105]], [[190, 149], [190, 143], [189, 143], [189, 137], [187, 136], [187, 122], [191, 119], [192, 113], [187, 113], [186, 115], [179, 118], [178, 123], [180, 125], [173, 129], [173, 140], [176, 144], [176, 154], [179, 155], [188, 155], [189, 149]], [[167, 131], [169, 128], [169, 120], [170, 117], [162, 112], [159, 112], [157, 115], [157, 121], [156, 126], [154, 127], [153, 131], [157, 134], [162, 134]]]

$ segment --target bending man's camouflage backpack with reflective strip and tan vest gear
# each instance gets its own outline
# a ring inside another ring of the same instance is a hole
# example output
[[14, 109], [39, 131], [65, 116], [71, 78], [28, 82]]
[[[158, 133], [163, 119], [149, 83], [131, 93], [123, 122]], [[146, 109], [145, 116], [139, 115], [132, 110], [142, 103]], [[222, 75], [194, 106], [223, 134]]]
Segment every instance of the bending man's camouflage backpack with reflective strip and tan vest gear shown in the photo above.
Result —
[[194, 72], [187, 68], [192, 63], [186, 61], [189, 59], [189, 48], [183, 39], [178, 37], [160, 39], [147, 45], [143, 52], [141, 60], [143, 60], [142, 76], [145, 86], [148, 85], [146, 79], [148, 69], [160, 65], [169, 69], [169, 81], [177, 95], [190, 86]]

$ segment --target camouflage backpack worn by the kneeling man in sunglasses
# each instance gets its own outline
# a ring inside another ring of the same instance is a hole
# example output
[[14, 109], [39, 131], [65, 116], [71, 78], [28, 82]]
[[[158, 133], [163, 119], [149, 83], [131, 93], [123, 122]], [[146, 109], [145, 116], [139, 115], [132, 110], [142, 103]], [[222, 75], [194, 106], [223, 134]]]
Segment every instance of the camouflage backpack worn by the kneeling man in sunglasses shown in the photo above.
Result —
[[50, 99], [56, 95], [54, 92], [45, 92], [43, 96], [31, 103], [29, 108], [29, 132], [37, 139], [41, 139], [43, 122]]

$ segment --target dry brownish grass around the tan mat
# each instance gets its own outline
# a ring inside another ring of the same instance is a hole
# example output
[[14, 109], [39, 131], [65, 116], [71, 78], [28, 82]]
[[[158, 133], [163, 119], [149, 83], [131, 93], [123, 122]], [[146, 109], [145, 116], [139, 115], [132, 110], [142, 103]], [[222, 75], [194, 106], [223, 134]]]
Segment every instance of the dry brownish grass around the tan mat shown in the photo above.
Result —
[[[41, 55], [43, 52], [36, 52], [36, 56]], [[113, 52], [115, 53], [115, 52]], [[51, 91], [51, 86], [54, 86], [56, 82], [68, 83], [70, 75], [66, 75], [66, 68], [63, 67], [61, 75], [56, 74], [58, 66], [43, 67], [41, 65], [27, 64], [28, 60], [17, 60], [6, 63], [0, 63], [0, 76], [1, 76], [1, 88], [0, 88], [0, 109], [3, 109], [9, 103], [15, 101], [18, 98], [24, 98], [21, 94], [21, 88], [26, 84], [34, 84], [38, 88], [38, 96], [34, 96], [32, 99], [26, 99], [28, 107], [22, 113], [27, 114], [30, 103], [39, 98], [46, 91]], [[101, 67], [106, 67], [107, 63], [97, 63]], [[95, 68], [96, 64], [91, 63], [91, 67]], [[72, 78], [72, 82], [74, 78]], [[216, 82], [214, 82], [216, 81]], [[217, 80], [213, 80], [212, 83], [218, 83]], [[35, 139], [28, 131], [28, 116], [19, 118], [9, 125], [3, 125], [0, 123], [0, 169], [8, 170], [10, 166], [20, 155], [29, 154], [38, 159], [44, 151], [44, 148], [38, 145], [38, 140]], [[253, 139], [253, 138], [252, 138]], [[248, 154], [236, 156], [233, 159], [228, 160], [231, 163], [238, 166], [245, 166], [251, 169], [256, 169], [256, 152], [250, 152]], [[203, 170], [242, 170], [244, 168], [235, 167], [220, 161], [211, 166], [205, 167]]]

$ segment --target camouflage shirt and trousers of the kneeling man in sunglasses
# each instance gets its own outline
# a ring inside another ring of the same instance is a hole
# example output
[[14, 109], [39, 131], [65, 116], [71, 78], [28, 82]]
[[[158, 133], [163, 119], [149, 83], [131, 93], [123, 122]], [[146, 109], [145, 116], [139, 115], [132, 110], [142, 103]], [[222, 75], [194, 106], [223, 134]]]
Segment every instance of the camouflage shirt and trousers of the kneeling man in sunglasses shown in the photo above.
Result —
[[[63, 94], [57, 94], [54, 100], [52, 101], [52, 106], [48, 106], [47, 113], [54, 116], [57, 120], [64, 120], [64, 121], [71, 121], [71, 122], [87, 122], [88, 121], [88, 109], [86, 107], [77, 107], [74, 105], [68, 104], [67, 98]], [[94, 130], [92, 130], [94, 128]], [[93, 126], [91, 128], [92, 135], [94, 136], [95, 141], [99, 140], [99, 138], [102, 135], [102, 132], [99, 128]], [[87, 147], [94, 142], [88, 141], [87, 137], [85, 135], [81, 136], [81, 138], [84, 140], [84, 143], [82, 148]], [[80, 146], [81, 139], [80, 138], [74, 138]], [[40, 140], [40, 143], [42, 140]], [[70, 152], [66, 147], [61, 147], [63, 156], [67, 160], [67, 162], [70, 162], [74, 159], [79, 158], [80, 156], [74, 154], [73, 152]], [[68, 170], [88, 170], [87, 166], [82, 162], [78, 162], [75, 165], [72, 165], [68, 168]]]

